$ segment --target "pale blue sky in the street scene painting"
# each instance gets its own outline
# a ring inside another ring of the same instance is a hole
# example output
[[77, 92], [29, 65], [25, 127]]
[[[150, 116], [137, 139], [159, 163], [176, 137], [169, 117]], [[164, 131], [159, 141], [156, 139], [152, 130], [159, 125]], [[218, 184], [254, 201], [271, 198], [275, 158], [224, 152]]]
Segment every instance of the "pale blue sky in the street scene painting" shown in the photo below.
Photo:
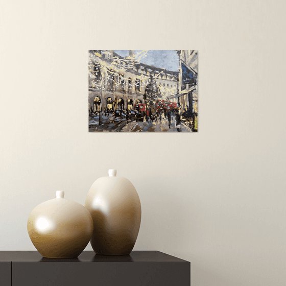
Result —
[[[114, 50], [114, 52], [122, 57], [128, 56], [128, 50]], [[136, 54], [141, 50], [134, 50], [134, 52]], [[179, 69], [179, 56], [175, 50], [149, 50], [140, 62], [173, 71]]]

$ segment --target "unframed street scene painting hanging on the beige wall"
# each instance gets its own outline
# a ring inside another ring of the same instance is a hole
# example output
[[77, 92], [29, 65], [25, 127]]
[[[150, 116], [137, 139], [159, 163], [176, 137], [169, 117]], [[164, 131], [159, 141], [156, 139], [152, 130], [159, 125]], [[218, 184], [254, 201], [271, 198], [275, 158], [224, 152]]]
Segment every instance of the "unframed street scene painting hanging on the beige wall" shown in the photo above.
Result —
[[89, 50], [89, 132], [197, 132], [198, 51]]

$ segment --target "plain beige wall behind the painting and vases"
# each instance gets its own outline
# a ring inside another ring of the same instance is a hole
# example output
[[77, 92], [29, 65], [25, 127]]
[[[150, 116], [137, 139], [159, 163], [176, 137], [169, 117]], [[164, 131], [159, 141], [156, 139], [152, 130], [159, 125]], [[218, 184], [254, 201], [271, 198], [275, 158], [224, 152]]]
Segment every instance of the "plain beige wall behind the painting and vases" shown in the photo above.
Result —
[[[284, 1], [0, 5], [0, 250], [34, 250], [30, 211], [116, 168], [135, 250], [189, 260], [192, 285], [285, 285]], [[199, 50], [198, 133], [88, 133], [88, 50], [130, 48]]]

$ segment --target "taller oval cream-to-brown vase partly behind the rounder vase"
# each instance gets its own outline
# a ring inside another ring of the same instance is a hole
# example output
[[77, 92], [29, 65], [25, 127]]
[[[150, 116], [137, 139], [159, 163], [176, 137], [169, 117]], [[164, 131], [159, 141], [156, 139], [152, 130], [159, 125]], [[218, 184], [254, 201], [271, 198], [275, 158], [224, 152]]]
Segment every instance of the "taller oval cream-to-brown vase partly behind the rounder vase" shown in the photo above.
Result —
[[108, 173], [92, 184], [85, 200], [93, 220], [90, 244], [99, 255], [128, 255], [139, 232], [141, 204], [128, 179], [116, 177], [116, 170]]

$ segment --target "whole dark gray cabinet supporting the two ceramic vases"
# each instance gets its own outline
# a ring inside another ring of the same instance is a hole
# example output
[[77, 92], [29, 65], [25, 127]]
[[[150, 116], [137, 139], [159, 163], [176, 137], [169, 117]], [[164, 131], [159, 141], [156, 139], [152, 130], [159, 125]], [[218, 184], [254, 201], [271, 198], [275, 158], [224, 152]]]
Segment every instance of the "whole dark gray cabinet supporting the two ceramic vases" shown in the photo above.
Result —
[[159, 251], [43, 258], [38, 251], [0, 251], [1, 286], [189, 286], [190, 263]]

